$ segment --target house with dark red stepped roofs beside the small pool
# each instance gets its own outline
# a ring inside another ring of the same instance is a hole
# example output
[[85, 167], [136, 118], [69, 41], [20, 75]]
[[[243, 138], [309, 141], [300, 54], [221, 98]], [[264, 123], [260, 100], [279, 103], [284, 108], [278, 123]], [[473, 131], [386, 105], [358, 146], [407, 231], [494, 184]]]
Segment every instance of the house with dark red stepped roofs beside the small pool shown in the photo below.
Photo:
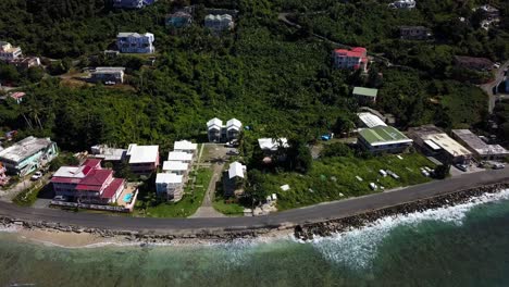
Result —
[[109, 204], [119, 200], [125, 189], [123, 178], [101, 167], [101, 160], [88, 159], [79, 166], [62, 166], [51, 178], [57, 196], [80, 203]]

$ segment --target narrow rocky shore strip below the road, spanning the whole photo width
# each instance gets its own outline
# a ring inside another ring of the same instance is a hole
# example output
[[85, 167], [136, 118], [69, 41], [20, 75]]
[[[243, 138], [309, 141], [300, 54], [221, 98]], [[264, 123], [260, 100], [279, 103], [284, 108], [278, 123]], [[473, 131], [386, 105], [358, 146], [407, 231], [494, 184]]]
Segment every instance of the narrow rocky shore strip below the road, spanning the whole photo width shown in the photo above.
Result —
[[87, 235], [102, 238], [104, 241], [132, 245], [159, 245], [159, 244], [196, 244], [196, 242], [228, 242], [236, 239], [252, 239], [258, 237], [276, 237], [280, 235], [294, 234], [301, 240], [311, 240], [315, 236], [331, 236], [350, 228], [365, 226], [382, 217], [421, 212], [430, 209], [456, 205], [464, 203], [473, 197], [484, 194], [495, 194], [508, 189], [509, 183], [486, 185], [465, 190], [459, 190], [443, 196], [406, 202], [384, 209], [362, 212], [347, 217], [327, 220], [318, 223], [300, 225], [269, 226], [256, 229], [214, 229], [214, 230], [179, 230], [179, 232], [154, 232], [154, 230], [114, 230], [101, 228], [88, 228], [82, 226], [63, 225], [60, 223], [45, 221], [24, 221], [9, 216], [0, 216], [0, 227], [22, 228], [23, 230], [46, 232], [54, 235], [73, 234], [76, 236]]

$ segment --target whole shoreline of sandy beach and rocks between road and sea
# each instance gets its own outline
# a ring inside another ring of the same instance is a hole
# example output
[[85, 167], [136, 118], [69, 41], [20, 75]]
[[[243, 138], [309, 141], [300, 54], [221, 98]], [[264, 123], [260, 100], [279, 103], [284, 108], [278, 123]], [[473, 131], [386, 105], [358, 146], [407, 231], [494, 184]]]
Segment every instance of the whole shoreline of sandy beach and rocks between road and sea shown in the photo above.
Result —
[[92, 248], [102, 246], [197, 246], [234, 242], [236, 240], [275, 239], [294, 237], [308, 241], [315, 237], [328, 237], [351, 228], [359, 228], [376, 222], [380, 219], [406, 215], [445, 207], [454, 207], [468, 202], [472, 198], [485, 194], [497, 194], [509, 188], [509, 182], [483, 185], [461, 189], [426, 199], [402, 202], [350, 214], [348, 216], [327, 219], [303, 224], [286, 224], [260, 228], [195, 230], [194, 233], [157, 234], [150, 230], [114, 230], [86, 228], [58, 223], [30, 222], [9, 216], [0, 216], [0, 228], [7, 233], [16, 234], [21, 240], [35, 241], [62, 248]]

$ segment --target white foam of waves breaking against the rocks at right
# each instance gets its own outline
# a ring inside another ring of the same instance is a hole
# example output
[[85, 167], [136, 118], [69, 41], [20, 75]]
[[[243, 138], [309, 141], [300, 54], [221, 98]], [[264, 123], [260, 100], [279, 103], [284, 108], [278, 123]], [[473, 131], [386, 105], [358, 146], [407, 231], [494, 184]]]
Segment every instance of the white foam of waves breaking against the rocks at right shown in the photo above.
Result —
[[315, 238], [310, 244], [327, 260], [356, 270], [364, 270], [372, 266], [380, 244], [398, 226], [417, 227], [424, 221], [439, 221], [461, 225], [472, 208], [508, 199], [509, 189], [496, 194], [485, 194], [455, 207], [387, 216], [360, 228], [351, 228], [348, 232], [337, 233], [331, 237]]

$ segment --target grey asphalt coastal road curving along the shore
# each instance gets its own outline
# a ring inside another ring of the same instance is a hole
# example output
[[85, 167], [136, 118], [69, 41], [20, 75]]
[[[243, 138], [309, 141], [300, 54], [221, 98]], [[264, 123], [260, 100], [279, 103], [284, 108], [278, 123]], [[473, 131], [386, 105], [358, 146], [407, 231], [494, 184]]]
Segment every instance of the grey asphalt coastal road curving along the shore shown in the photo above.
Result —
[[82, 227], [135, 230], [156, 234], [190, 234], [213, 230], [241, 230], [263, 227], [291, 226], [295, 224], [322, 222], [353, 214], [411, 202], [419, 199], [445, 195], [460, 189], [509, 180], [509, 169], [489, 170], [435, 180], [427, 184], [352, 198], [308, 208], [295, 209], [254, 217], [218, 219], [149, 219], [127, 217], [91, 213], [72, 213], [62, 210], [21, 208], [0, 202], [0, 215], [26, 221], [46, 221]]

